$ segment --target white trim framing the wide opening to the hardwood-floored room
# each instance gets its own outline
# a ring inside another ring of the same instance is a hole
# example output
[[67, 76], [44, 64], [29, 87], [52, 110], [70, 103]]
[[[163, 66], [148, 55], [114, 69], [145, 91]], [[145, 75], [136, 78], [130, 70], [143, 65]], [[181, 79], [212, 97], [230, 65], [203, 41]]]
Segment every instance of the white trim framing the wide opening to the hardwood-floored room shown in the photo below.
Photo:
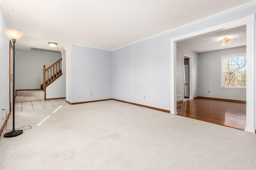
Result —
[[[206, 29], [202, 29], [200, 31], [192, 32], [186, 35], [181, 35], [178, 37], [172, 37], [171, 41], [171, 108], [170, 110], [174, 110], [176, 108], [176, 98], [173, 95], [176, 92], [176, 72], [173, 70], [176, 69], [176, 41], [181, 41], [183, 39], [193, 37], [196, 35], [200, 35], [203, 33], [207, 33], [210, 31], [216, 31], [219, 29], [224, 29], [226, 27], [232, 27], [235, 25], [246, 23], [246, 57], [247, 57], [247, 82], [246, 82], [246, 129], [245, 131], [255, 133], [254, 129], [254, 19], [255, 14], [247, 16], [246, 18], [230, 21], [228, 23], [216, 25], [213, 27], [209, 27]], [[173, 75], [174, 74], [174, 75]], [[175, 80], [175, 81], [174, 81]], [[172, 100], [173, 99], [173, 100]]]

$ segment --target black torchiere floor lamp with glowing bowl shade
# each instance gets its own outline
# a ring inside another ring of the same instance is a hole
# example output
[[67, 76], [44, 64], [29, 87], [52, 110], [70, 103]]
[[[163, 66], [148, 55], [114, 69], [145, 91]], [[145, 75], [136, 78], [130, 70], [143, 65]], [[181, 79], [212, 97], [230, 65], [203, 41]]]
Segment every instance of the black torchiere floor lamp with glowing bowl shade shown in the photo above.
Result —
[[15, 73], [15, 43], [16, 43], [16, 40], [20, 39], [20, 37], [24, 36], [25, 34], [24, 33], [21, 33], [19, 31], [14, 31], [14, 30], [10, 30], [10, 29], [2, 29], [2, 32], [5, 33], [7, 35], [8, 38], [12, 39], [12, 42], [13, 42], [13, 78], [12, 78], [12, 131], [10, 132], [7, 132], [4, 134], [4, 137], [16, 137], [18, 135], [21, 135], [23, 133], [22, 130], [15, 130], [15, 126], [14, 126], [14, 101], [15, 101], [15, 88], [14, 88], [14, 73]]

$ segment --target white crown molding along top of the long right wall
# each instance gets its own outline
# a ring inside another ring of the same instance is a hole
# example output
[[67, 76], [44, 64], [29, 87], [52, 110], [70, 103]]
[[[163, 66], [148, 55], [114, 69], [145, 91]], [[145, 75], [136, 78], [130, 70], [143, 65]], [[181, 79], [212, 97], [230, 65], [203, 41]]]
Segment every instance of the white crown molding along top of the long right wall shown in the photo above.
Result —
[[154, 37], [159, 37], [159, 36], [161, 36], [161, 35], [164, 35], [164, 34], [167, 34], [167, 33], [171, 33], [171, 32], [177, 31], [177, 30], [179, 30], [179, 29], [183, 29], [183, 28], [186, 28], [186, 27], [190, 27], [190, 26], [192, 26], [192, 25], [196, 25], [196, 24], [198, 24], [198, 23], [202, 23], [202, 22], [204, 22], [204, 21], [211, 20], [211, 19], [214, 19], [214, 18], [223, 16], [223, 15], [229, 14], [229, 13], [231, 13], [231, 12], [235, 12], [235, 11], [237, 11], [237, 10], [242, 10], [242, 9], [244, 9], [244, 8], [247, 8], [247, 7], [250, 7], [250, 6], [253, 6], [253, 5], [256, 5], [256, 0], [247, 2], [247, 3], [242, 4], [242, 5], [239, 5], [239, 6], [235, 6], [235, 7], [233, 7], [233, 8], [228, 9], [228, 10], [224, 10], [224, 11], [222, 11], [222, 12], [218, 12], [218, 13], [216, 13], [216, 14], [212, 14], [212, 15], [210, 15], [210, 16], [201, 18], [201, 19], [196, 20], [196, 21], [192, 21], [192, 22], [190, 22], [190, 23], [186, 23], [186, 24], [184, 24], [184, 25], [180, 25], [180, 26], [175, 27], [175, 28], [172, 28], [172, 29], [168, 29], [168, 30], [163, 31], [163, 32], [161, 32], [161, 33], [157, 33], [157, 34], [155, 34], [155, 35], [152, 35], [152, 36], [150, 36], [150, 37], [146, 37], [146, 38], [140, 39], [140, 40], [138, 40], [138, 41], [134, 41], [134, 42], [132, 42], [132, 43], [128, 43], [128, 44], [126, 44], [126, 45], [123, 45], [123, 46], [117, 47], [117, 48], [115, 48], [115, 49], [112, 49], [112, 51], [116, 51], [116, 50], [118, 50], [118, 49], [122, 49], [122, 48], [124, 48], [124, 47], [128, 47], [128, 46], [130, 46], [130, 45], [134, 45], [134, 44], [136, 44], [136, 43], [140, 43], [140, 42], [142, 42], [142, 41], [146, 41], [146, 40], [152, 39], [152, 38], [154, 38]]

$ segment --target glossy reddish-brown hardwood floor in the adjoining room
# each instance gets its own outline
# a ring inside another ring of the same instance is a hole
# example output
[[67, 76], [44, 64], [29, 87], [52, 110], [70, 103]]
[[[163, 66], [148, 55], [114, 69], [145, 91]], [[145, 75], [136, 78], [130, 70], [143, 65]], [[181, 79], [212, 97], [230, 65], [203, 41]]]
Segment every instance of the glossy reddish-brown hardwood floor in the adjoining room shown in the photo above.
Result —
[[194, 99], [177, 103], [177, 115], [244, 130], [246, 103]]

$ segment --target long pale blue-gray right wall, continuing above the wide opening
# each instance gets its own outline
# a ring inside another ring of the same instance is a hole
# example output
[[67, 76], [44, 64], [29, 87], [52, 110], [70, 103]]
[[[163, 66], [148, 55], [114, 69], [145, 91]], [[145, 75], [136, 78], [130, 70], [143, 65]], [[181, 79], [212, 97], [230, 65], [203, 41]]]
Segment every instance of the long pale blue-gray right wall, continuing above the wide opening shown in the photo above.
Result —
[[[114, 87], [113, 98], [170, 110], [170, 38], [244, 18], [255, 12], [256, 5], [250, 6], [113, 51], [113, 82], [132, 84], [126, 88]], [[153, 88], [133, 88], [140, 82], [146, 85], [153, 82]]]

